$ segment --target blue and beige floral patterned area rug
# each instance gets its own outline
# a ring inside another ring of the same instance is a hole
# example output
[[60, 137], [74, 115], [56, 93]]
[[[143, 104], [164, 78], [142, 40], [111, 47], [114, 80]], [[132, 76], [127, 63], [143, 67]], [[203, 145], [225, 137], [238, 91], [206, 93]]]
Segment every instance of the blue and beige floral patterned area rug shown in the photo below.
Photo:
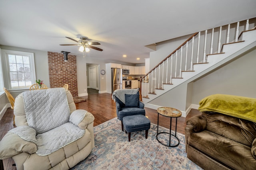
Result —
[[[158, 131], [168, 129], [160, 127]], [[139, 131], [131, 133], [131, 141], [128, 142], [128, 134], [121, 130], [120, 121], [111, 119], [94, 127], [95, 148], [85, 160], [71, 169], [202, 170], [187, 158], [184, 135], [177, 133], [180, 139], [178, 147], [165, 147], [157, 141], [156, 133], [157, 125], [151, 123], [148, 139], [145, 139], [145, 131]], [[162, 135], [160, 141], [166, 140], [169, 136]]]

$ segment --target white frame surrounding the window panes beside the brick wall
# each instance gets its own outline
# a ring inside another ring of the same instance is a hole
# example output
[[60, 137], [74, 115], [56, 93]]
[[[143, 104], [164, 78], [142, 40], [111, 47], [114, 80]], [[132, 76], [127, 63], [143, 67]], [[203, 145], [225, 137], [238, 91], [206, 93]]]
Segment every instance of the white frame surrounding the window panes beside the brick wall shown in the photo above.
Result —
[[[10, 67], [8, 61], [8, 55], [21, 55], [21, 56], [28, 56], [30, 59], [30, 69], [32, 72], [31, 81], [36, 82], [36, 69], [35, 69], [35, 61], [34, 61], [34, 53], [24, 52], [24, 51], [14, 51], [14, 50], [6, 50], [2, 49], [2, 75], [4, 86], [9, 91], [18, 91], [18, 90], [26, 90], [29, 88], [15, 88], [13, 89], [11, 86], [11, 79], [10, 79]], [[33, 84], [33, 83], [32, 83]]]

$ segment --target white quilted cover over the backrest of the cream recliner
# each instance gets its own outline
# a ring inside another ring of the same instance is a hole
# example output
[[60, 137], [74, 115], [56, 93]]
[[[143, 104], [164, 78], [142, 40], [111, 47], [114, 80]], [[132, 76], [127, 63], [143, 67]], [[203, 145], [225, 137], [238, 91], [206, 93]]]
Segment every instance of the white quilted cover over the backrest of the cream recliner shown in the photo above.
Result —
[[64, 88], [49, 88], [23, 92], [28, 125], [37, 134], [69, 121], [70, 109]]

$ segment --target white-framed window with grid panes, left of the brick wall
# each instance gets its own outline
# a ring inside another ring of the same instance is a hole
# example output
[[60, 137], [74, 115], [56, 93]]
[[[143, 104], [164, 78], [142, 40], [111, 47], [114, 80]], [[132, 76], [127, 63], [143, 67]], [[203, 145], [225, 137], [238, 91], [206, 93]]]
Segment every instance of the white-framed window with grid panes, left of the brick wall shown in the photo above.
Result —
[[9, 90], [27, 89], [35, 82], [34, 54], [2, 50], [5, 61], [4, 85]]

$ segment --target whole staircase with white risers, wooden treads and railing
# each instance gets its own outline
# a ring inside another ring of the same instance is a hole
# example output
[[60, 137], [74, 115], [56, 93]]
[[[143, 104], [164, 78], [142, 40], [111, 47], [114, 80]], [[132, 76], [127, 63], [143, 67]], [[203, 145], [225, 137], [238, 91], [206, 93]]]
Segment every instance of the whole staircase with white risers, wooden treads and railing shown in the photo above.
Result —
[[256, 18], [252, 18], [194, 33], [141, 79], [145, 106], [256, 47], [255, 26]]

